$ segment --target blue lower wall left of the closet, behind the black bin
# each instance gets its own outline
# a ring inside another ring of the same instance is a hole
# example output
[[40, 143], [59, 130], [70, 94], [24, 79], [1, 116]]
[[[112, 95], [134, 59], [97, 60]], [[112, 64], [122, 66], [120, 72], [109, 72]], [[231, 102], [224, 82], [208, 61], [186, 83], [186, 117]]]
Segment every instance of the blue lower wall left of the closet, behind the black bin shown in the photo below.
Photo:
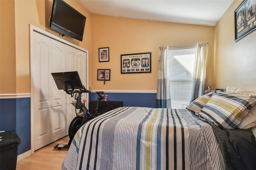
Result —
[[0, 99], [0, 130], [16, 130], [18, 155], [30, 150], [30, 97]]

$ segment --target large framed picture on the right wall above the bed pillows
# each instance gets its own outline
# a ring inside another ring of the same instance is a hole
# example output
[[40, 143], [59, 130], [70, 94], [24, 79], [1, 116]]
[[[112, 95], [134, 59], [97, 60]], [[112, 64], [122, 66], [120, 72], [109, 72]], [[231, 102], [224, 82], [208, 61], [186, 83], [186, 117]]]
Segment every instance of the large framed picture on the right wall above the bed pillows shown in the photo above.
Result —
[[235, 10], [235, 42], [256, 29], [256, 0], [244, 0]]

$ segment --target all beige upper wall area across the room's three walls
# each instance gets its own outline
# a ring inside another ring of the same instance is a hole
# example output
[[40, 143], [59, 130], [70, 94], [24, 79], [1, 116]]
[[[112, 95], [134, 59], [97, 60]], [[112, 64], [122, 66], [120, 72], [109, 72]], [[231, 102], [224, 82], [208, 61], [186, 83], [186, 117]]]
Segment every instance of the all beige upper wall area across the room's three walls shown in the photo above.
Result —
[[[206, 81], [211, 79], [212, 88], [256, 86], [256, 31], [234, 42], [234, 10], [242, 0], [235, 0], [215, 27], [100, 16], [65, 1], [86, 16], [83, 42], [63, 39], [88, 49], [93, 90], [156, 90], [158, 47], [197, 42], [209, 43]], [[30, 93], [29, 24], [59, 36], [49, 28], [51, 10], [52, 0], [0, 1], [1, 94]], [[110, 47], [110, 62], [98, 62], [100, 47]], [[121, 74], [120, 55], [142, 52], [152, 52], [152, 73]], [[97, 81], [97, 69], [111, 69], [111, 81]]]

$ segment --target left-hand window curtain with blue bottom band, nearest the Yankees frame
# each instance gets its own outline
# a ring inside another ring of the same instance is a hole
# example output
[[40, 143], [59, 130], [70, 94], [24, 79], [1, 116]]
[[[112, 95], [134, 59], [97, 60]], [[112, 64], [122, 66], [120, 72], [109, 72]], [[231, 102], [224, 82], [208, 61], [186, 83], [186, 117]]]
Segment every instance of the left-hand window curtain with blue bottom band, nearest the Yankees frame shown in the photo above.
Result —
[[160, 47], [156, 108], [171, 108], [168, 48], [168, 45]]

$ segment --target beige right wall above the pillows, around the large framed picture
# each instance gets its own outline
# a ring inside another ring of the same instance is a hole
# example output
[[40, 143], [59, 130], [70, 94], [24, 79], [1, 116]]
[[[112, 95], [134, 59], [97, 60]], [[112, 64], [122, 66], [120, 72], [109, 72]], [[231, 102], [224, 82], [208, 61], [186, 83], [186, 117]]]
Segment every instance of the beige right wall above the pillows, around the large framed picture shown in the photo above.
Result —
[[235, 0], [215, 26], [214, 83], [216, 88], [256, 89], [256, 31], [234, 42]]

